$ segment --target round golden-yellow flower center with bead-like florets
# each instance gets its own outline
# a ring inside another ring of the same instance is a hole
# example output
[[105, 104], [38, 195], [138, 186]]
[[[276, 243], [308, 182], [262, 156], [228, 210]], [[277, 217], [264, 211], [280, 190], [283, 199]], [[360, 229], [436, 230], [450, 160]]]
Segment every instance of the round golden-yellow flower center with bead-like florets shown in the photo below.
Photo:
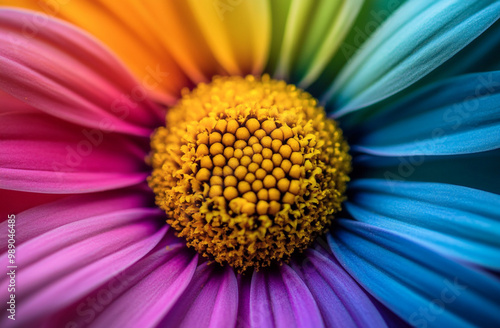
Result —
[[148, 179], [167, 223], [242, 272], [287, 261], [341, 208], [351, 157], [308, 93], [264, 75], [201, 83], [152, 136]]

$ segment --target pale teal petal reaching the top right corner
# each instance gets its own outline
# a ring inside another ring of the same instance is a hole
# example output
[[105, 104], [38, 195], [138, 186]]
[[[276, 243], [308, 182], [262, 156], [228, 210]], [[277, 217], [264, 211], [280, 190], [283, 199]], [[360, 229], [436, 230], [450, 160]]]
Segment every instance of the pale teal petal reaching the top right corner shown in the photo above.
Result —
[[324, 100], [333, 101], [340, 116], [385, 99], [453, 57], [499, 17], [498, 1], [409, 1], [345, 67]]

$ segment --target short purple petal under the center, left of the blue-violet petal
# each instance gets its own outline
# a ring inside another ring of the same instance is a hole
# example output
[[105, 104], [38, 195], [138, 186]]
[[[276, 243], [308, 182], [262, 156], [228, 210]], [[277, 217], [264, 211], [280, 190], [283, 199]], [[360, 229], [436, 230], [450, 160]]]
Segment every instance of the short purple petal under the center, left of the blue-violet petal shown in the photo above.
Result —
[[313, 295], [286, 264], [253, 274], [249, 320], [251, 327], [324, 327]]

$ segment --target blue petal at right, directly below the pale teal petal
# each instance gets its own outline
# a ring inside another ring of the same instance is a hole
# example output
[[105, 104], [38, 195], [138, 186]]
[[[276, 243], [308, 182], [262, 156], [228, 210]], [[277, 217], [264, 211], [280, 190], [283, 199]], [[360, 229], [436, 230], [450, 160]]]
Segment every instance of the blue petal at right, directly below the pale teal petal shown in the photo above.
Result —
[[438, 82], [364, 126], [364, 135], [353, 149], [379, 156], [467, 154], [500, 148], [500, 71]]

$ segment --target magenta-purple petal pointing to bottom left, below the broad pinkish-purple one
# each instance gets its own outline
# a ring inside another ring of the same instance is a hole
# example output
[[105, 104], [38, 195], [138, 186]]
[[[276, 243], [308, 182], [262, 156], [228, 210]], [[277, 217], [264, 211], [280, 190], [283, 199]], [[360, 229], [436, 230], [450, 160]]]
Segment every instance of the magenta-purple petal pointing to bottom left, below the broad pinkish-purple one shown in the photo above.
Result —
[[[92, 326], [155, 327], [188, 288], [197, 264], [198, 256], [184, 244], [160, 243], [123, 273], [126, 291], [113, 299]], [[137, 306], [138, 300], [140, 306]], [[81, 319], [81, 316], [74, 317], [75, 322], [83, 321]]]

